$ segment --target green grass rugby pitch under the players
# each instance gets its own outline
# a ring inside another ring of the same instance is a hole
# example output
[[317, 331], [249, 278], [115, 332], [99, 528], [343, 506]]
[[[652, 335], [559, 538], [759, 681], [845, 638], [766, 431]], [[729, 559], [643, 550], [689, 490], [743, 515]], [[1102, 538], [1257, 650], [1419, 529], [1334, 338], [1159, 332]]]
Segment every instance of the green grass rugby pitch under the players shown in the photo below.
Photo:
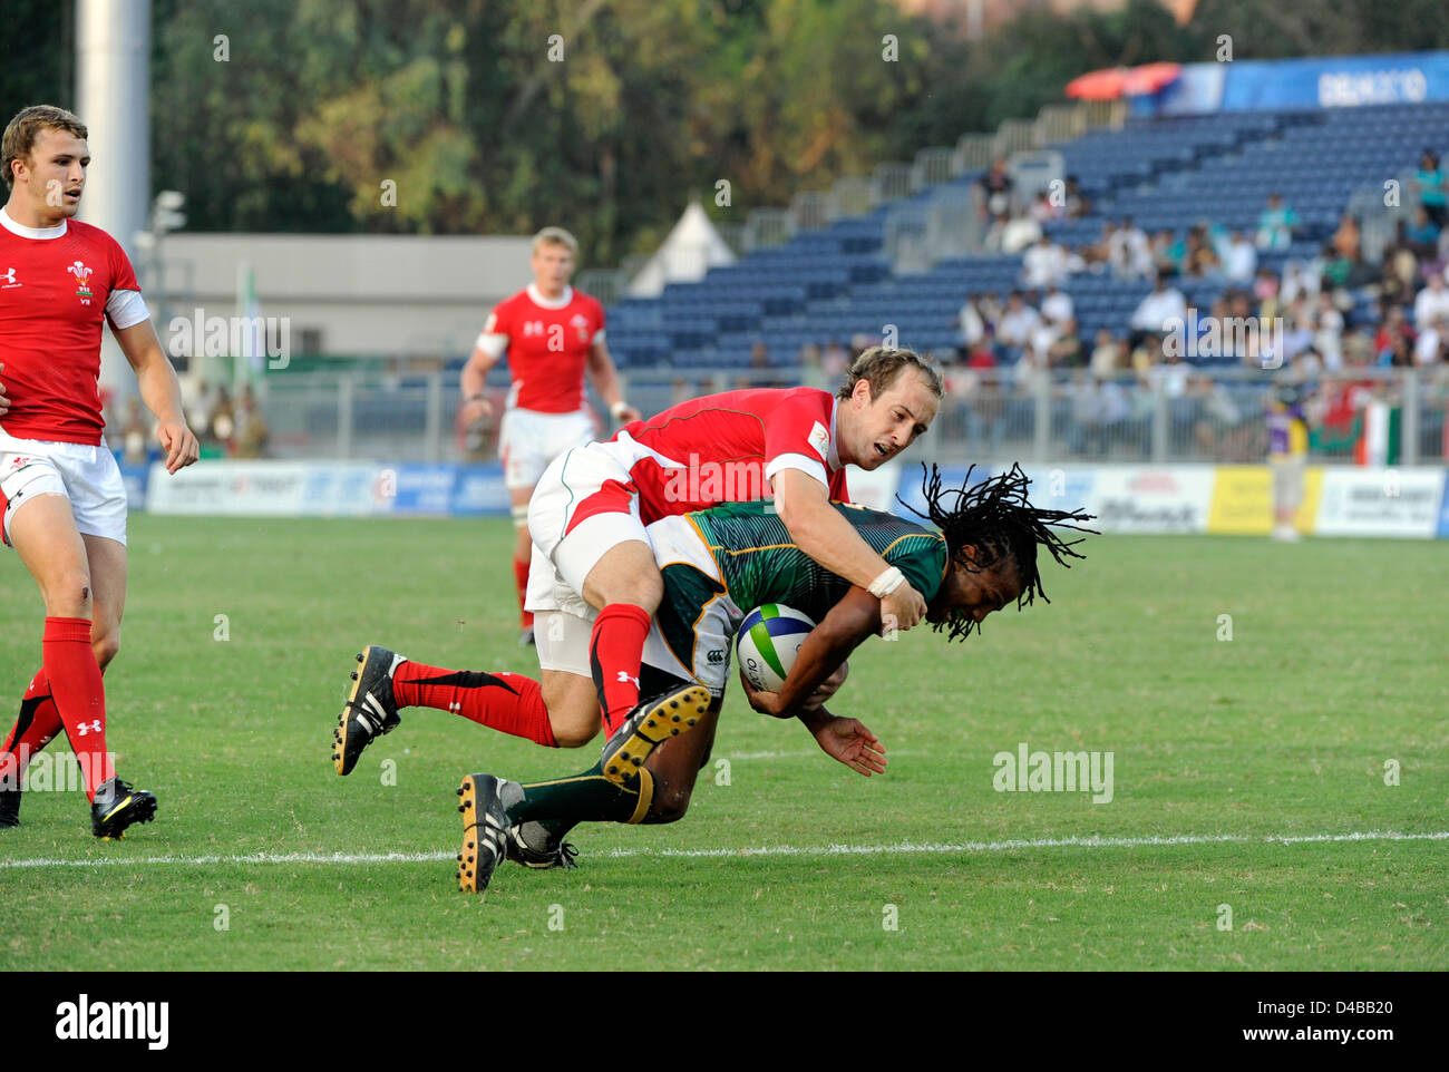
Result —
[[[135, 516], [109, 734], [159, 814], [97, 843], [78, 791], [29, 792], [0, 832], [0, 969], [587, 969], [620, 934], [682, 969], [1449, 968], [1446, 845], [1423, 837], [1449, 830], [1443, 543], [1090, 539], [1043, 565], [1049, 606], [858, 652], [833, 710], [881, 736], [885, 776], [736, 682], [682, 823], [581, 827], [577, 871], [504, 865], [465, 897], [459, 776], [571, 774], [597, 745], [414, 710], [338, 778], [330, 734], [368, 642], [536, 669], [510, 540]], [[6, 726], [39, 626], [7, 552]], [[1023, 742], [1111, 752], [1113, 800], [998, 792], [993, 756]], [[1420, 837], [1274, 840], [1372, 832]]]

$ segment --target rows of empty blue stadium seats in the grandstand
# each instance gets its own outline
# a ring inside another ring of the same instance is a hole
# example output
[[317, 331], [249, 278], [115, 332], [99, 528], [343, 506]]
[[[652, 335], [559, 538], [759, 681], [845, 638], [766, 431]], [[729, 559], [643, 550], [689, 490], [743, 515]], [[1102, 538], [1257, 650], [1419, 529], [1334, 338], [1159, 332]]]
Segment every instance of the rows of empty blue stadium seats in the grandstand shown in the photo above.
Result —
[[[1130, 216], [1148, 232], [1174, 236], [1204, 220], [1252, 233], [1268, 194], [1281, 193], [1301, 230], [1287, 251], [1259, 258], [1277, 269], [1288, 258], [1317, 254], [1356, 190], [1401, 174], [1426, 143], [1443, 142], [1446, 130], [1449, 104], [1222, 113], [1097, 129], [1051, 146], [1062, 154], [1066, 174], [1078, 177], [1093, 210], [1046, 230], [1055, 242], [1077, 246], [1095, 242], [1106, 222]], [[880, 336], [887, 324], [903, 345], [951, 349], [966, 294], [1010, 291], [1022, 258], [951, 258], [922, 274], [894, 275], [884, 252], [885, 217], [894, 206], [800, 232], [711, 269], [701, 282], [671, 284], [658, 298], [616, 303], [609, 310], [616, 359], [625, 367], [745, 368], [751, 346], [762, 342], [772, 365], [793, 365], [804, 343]], [[1224, 290], [1220, 281], [1178, 287], [1188, 304], [1204, 310]], [[1149, 288], [1145, 281], [1088, 274], [1065, 287], [1087, 339], [1098, 327], [1122, 333]], [[1365, 296], [1355, 313], [1359, 323], [1372, 319]]]

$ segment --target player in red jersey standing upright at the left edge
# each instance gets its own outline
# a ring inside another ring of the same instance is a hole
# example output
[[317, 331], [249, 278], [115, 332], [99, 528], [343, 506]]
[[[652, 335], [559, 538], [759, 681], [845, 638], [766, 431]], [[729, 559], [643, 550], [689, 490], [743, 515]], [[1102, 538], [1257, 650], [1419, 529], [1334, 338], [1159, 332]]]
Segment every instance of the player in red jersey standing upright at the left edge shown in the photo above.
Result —
[[85, 188], [85, 126], [41, 104], [3, 139], [10, 198], [0, 210], [0, 516], [45, 600], [42, 665], [0, 746], [0, 827], [16, 826], [20, 774], [62, 729], [91, 801], [91, 832], [119, 837], [156, 798], [116, 776], [106, 750], [101, 672], [120, 648], [126, 488], [101, 442], [101, 324], [156, 417], [167, 471], [197, 459], [181, 388], [151, 327], [130, 261], [72, 219]]

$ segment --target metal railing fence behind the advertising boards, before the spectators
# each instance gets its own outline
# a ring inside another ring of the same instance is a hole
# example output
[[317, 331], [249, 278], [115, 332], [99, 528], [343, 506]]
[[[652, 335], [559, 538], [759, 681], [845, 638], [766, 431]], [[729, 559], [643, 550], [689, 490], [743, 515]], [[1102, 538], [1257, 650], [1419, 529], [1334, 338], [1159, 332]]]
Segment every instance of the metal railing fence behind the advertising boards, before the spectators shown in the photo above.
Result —
[[[736, 387], [835, 387], [813, 368], [630, 369], [626, 382], [629, 400], [645, 414]], [[1400, 462], [1446, 456], [1449, 368], [1355, 369], [1352, 385], [1343, 375], [1295, 382], [1252, 368], [1193, 369], [1185, 382], [1155, 374], [1098, 380], [1084, 369], [1017, 377], [1013, 369], [951, 368], [946, 384], [927, 446], [948, 461], [1259, 462], [1266, 452], [1264, 407], [1288, 388], [1308, 410], [1319, 461], [1350, 461], [1369, 401], [1398, 411]], [[494, 377], [490, 390], [501, 411], [506, 380]], [[604, 411], [597, 400], [594, 407]], [[485, 459], [496, 451], [496, 420], [471, 437], [459, 424], [452, 372], [288, 372], [268, 378], [262, 410], [272, 456], [436, 462]], [[601, 424], [604, 435], [611, 430]]]

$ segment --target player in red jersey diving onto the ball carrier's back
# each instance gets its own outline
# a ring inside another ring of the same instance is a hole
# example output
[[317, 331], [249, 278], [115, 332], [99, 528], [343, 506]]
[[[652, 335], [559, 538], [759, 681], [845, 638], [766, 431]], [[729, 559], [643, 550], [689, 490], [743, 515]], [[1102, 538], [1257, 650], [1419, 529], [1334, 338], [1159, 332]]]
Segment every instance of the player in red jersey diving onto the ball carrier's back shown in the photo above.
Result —
[[[877, 348], [856, 359], [836, 395], [807, 387], [706, 395], [568, 451], [529, 506], [527, 607], [567, 611], [538, 635], [540, 681], [459, 674], [372, 645], [358, 656], [333, 734], [338, 774], [352, 771], [410, 705], [451, 710], [551, 748], [584, 745], [603, 721], [606, 758], [646, 759], [658, 742], [640, 727], [680, 701], [674, 690], [639, 703], [645, 639], [664, 595], [645, 526], [661, 517], [772, 497], [801, 553], [880, 600], [884, 629], [917, 624], [922, 594], [830, 501], [849, 500], [845, 465], [875, 469], [913, 443], [940, 394], [940, 377], [919, 355]], [[584, 671], [567, 655], [580, 648], [588, 652]], [[610, 781], [623, 771], [604, 765]]]

